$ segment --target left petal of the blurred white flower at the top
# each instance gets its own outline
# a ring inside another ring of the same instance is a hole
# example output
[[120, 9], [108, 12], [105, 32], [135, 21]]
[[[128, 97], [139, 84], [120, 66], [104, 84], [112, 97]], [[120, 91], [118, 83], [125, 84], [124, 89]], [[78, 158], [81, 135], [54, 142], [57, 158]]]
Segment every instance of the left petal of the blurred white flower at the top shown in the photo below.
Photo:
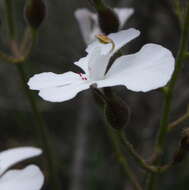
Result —
[[95, 32], [99, 31], [95, 14], [83, 8], [75, 11], [75, 17], [79, 23], [79, 28], [85, 43], [89, 44], [94, 40]]

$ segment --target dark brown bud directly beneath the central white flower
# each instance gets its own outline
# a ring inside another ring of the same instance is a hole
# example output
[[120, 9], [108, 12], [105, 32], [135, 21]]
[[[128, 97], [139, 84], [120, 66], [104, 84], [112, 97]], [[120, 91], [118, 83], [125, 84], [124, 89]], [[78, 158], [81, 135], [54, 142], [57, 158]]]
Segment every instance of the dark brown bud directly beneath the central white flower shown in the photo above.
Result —
[[105, 88], [105, 97], [105, 116], [107, 122], [114, 129], [126, 127], [130, 118], [128, 105], [120, 97], [112, 94], [110, 88]]

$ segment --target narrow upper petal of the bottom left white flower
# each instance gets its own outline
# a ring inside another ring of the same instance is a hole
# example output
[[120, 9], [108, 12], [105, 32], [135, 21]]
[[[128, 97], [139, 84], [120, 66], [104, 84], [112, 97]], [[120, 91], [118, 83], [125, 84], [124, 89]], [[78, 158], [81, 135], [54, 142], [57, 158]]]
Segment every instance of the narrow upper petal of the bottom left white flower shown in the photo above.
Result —
[[19, 147], [0, 152], [0, 175], [12, 165], [28, 158], [38, 156], [41, 153], [41, 149], [34, 147]]

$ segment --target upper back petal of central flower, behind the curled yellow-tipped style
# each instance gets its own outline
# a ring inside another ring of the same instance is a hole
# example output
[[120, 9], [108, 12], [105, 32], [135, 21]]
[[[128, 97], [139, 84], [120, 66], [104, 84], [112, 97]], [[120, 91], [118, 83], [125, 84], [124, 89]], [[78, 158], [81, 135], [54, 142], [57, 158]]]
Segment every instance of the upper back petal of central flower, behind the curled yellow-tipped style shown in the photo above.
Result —
[[[113, 55], [116, 51], [118, 51], [120, 48], [122, 48], [124, 45], [126, 45], [128, 42], [135, 39], [139, 35], [140, 31], [134, 28], [121, 30], [120, 32], [108, 35], [108, 37], [112, 39], [115, 43], [115, 48], [114, 51], [111, 52], [111, 55]], [[86, 51], [88, 53], [91, 53], [97, 47], [101, 48], [101, 54], [106, 55], [110, 53], [112, 49], [112, 44], [103, 44], [99, 42], [99, 40], [96, 40], [87, 47]]]

